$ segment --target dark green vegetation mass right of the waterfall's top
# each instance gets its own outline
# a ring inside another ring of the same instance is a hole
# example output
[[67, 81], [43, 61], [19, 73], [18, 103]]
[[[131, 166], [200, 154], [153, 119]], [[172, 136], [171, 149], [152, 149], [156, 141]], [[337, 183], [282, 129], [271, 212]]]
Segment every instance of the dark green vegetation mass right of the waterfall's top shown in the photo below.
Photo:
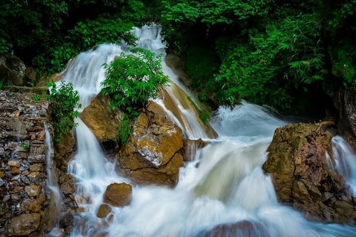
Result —
[[308, 114], [323, 112], [326, 92], [355, 85], [355, 7], [355, 0], [168, 1], [161, 21], [199, 99]]

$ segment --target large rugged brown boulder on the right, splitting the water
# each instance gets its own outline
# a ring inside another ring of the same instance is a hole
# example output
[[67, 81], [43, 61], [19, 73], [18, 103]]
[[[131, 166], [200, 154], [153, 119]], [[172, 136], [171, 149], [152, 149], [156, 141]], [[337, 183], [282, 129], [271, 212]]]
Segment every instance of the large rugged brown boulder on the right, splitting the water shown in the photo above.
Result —
[[315, 220], [354, 222], [355, 204], [345, 179], [328, 167], [332, 134], [325, 123], [278, 128], [263, 169], [271, 174], [279, 201]]

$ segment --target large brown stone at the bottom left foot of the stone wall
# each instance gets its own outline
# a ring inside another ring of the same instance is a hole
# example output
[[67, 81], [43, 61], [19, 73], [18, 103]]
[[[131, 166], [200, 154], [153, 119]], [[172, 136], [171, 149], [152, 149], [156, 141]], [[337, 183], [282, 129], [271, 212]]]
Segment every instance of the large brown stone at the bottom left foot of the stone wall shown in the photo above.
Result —
[[38, 213], [15, 216], [9, 221], [9, 233], [12, 236], [28, 236], [38, 229], [40, 221], [41, 214]]

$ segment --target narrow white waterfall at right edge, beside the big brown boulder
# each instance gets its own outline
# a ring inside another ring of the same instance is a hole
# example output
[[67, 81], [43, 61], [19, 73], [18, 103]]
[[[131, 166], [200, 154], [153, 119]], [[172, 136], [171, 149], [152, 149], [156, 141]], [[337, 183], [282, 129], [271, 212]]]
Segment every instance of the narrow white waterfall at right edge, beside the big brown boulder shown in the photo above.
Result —
[[352, 196], [356, 196], [356, 152], [345, 139], [335, 136], [331, 140], [335, 159], [335, 171], [345, 177], [350, 185]]

